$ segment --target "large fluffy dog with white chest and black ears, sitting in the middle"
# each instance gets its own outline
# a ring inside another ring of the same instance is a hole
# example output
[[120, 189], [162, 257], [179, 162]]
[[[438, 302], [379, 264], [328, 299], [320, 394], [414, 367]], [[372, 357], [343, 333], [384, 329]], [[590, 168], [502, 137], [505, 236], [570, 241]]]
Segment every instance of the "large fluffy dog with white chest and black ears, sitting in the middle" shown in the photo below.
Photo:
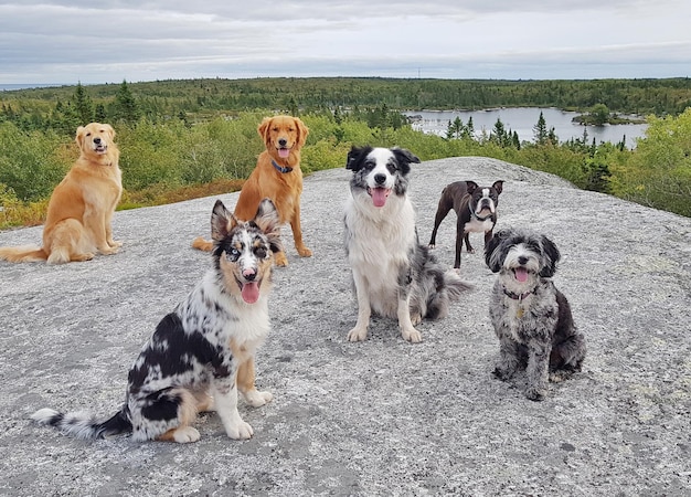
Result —
[[358, 322], [350, 341], [364, 340], [371, 313], [397, 318], [405, 340], [417, 342], [423, 317], [442, 318], [449, 300], [469, 285], [419, 244], [415, 211], [407, 197], [411, 163], [419, 159], [400, 148], [353, 147], [353, 171], [346, 205], [346, 252], [358, 297]]

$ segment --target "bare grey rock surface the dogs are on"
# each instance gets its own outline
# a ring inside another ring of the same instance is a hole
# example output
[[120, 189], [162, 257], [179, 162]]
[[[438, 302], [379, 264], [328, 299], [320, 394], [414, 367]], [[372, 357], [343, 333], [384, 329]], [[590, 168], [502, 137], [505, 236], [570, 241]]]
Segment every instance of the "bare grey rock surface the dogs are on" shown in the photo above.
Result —
[[[273, 330], [257, 383], [275, 400], [241, 401], [252, 440], [227, 438], [200, 416], [194, 444], [83, 442], [29, 415], [40, 408], [106, 416], [155, 326], [192, 288], [209, 255], [215, 198], [123, 211], [120, 253], [63, 266], [0, 262], [0, 494], [2, 495], [691, 495], [691, 220], [580, 191], [549, 175], [486, 158], [415, 165], [411, 194], [427, 242], [444, 186], [502, 179], [498, 228], [548, 234], [563, 260], [554, 277], [585, 334], [584, 370], [545, 401], [490, 371], [495, 275], [464, 252], [475, 285], [448, 318], [423, 321], [423, 342], [357, 318], [342, 246], [346, 169], [305, 181], [302, 225], [315, 256], [275, 269]], [[234, 207], [237, 193], [223, 195]], [[435, 254], [450, 267], [455, 216]], [[0, 233], [39, 243], [41, 228]]]

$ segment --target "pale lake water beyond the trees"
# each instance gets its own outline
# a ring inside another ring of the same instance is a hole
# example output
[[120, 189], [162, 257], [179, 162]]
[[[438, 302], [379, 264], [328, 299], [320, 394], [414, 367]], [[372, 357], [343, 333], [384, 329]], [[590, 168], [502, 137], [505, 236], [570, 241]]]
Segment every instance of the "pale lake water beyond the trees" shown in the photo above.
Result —
[[583, 138], [585, 128], [588, 134], [588, 144], [595, 138], [596, 144], [609, 141], [616, 145], [626, 137], [627, 147], [632, 148], [636, 146], [635, 138], [644, 137], [648, 127], [646, 124], [582, 126], [572, 120], [580, 113], [564, 112], [557, 108], [507, 107], [487, 110], [411, 110], [402, 114], [408, 117], [418, 117], [413, 120], [413, 129], [439, 136], [446, 136], [448, 123], [454, 121], [456, 117], [459, 117], [464, 125], [467, 125], [468, 119], [472, 117], [472, 125], [478, 136], [481, 135], [482, 130], [489, 135], [497, 119], [501, 119], [504, 129], [518, 133], [521, 141], [534, 141], [533, 127], [538, 124], [541, 112], [546, 129], [554, 128], [560, 142], [572, 138]]

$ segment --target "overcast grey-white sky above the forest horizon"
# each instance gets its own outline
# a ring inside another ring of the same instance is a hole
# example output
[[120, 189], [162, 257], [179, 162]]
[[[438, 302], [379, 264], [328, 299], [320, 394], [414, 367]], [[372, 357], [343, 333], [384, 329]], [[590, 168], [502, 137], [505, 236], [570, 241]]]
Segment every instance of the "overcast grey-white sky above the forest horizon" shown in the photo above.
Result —
[[0, 1], [0, 84], [691, 76], [689, 0]]

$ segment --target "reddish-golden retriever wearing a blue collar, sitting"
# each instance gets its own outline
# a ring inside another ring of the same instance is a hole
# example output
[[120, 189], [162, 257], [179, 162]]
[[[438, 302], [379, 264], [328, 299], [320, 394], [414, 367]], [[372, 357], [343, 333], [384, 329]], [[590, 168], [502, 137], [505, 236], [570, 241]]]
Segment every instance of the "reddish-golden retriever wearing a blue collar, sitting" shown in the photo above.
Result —
[[[258, 159], [257, 166], [243, 184], [235, 205], [234, 215], [241, 220], [249, 220], [257, 211], [262, 199], [269, 198], [276, 205], [281, 224], [290, 223], [295, 247], [301, 257], [309, 257], [312, 252], [302, 242], [300, 226], [300, 195], [302, 193], [302, 171], [300, 170], [300, 149], [305, 145], [309, 129], [293, 116], [266, 117], [257, 128], [264, 139], [266, 150]], [[289, 155], [281, 158], [280, 149], [289, 149]], [[279, 168], [289, 168], [280, 172]], [[198, 236], [192, 246], [202, 251], [211, 251], [213, 244]], [[276, 265], [286, 266], [288, 260], [280, 252], [276, 254]]]

